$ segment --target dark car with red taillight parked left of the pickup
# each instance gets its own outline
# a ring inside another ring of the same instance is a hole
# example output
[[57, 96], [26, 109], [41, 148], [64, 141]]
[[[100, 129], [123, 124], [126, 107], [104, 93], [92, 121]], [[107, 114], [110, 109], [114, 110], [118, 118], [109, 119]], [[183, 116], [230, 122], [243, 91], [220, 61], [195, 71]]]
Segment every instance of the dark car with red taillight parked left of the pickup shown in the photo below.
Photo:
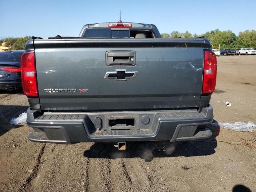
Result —
[[0, 90], [21, 87], [20, 57], [24, 51], [0, 52]]

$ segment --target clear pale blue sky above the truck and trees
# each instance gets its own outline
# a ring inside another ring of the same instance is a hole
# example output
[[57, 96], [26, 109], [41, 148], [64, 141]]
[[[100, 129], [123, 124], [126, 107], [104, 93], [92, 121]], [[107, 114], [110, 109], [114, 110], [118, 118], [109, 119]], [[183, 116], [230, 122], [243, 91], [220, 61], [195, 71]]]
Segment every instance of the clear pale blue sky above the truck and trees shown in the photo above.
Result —
[[78, 36], [84, 24], [155, 24], [160, 33], [256, 29], [256, 0], [0, 0], [0, 38]]

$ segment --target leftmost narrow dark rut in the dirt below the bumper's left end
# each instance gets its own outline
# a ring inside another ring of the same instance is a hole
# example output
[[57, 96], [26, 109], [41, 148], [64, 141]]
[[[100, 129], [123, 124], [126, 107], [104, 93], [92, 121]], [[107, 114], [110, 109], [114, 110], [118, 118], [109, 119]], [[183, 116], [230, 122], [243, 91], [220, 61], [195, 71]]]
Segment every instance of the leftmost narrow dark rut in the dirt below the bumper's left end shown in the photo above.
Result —
[[30, 186], [31, 186], [32, 180], [37, 176], [38, 171], [39, 171], [39, 169], [40, 169], [41, 158], [42, 158], [42, 155], [44, 154], [45, 146], [46, 146], [46, 143], [43, 144], [43, 146], [42, 146], [42, 148], [41, 148], [41, 151], [40, 151], [40, 153], [38, 154], [37, 163], [36, 163], [36, 166], [34, 166], [32, 173], [31, 173], [30, 176], [26, 179], [26, 183], [23, 184], [23, 185], [20, 187], [20, 189], [19, 189], [20, 192], [30, 192], [30, 191], [31, 191], [31, 190], [30, 190]]

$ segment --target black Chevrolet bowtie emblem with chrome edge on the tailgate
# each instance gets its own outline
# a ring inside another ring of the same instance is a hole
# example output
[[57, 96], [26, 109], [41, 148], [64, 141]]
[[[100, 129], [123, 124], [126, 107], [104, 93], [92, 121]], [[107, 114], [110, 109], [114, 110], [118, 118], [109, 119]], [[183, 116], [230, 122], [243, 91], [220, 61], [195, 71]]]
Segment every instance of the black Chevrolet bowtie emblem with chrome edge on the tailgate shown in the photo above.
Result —
[[116, 69], [115, 72], [106, 72], [104, 78], [126, 81], [128, 78], [135, 78], [138, 71], [126, 71], [126, 69]]

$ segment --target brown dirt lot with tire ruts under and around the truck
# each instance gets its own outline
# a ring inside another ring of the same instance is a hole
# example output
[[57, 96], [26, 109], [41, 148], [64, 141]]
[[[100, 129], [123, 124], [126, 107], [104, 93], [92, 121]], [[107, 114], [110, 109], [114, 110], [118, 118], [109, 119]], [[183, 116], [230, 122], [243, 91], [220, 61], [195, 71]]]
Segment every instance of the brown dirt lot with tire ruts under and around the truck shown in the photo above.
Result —
[[[256, 123], [256, 56], [220, 56], [212, 95], [218, 122]], [[228, 107], [228, 101], [232, 106]], [[0, 92], [0, 192], [256, 191], [256, 132], [209, 126], [208, 140], [172, 144], [42, 144], [10, 119], [28, 108], [21, 92]]]

